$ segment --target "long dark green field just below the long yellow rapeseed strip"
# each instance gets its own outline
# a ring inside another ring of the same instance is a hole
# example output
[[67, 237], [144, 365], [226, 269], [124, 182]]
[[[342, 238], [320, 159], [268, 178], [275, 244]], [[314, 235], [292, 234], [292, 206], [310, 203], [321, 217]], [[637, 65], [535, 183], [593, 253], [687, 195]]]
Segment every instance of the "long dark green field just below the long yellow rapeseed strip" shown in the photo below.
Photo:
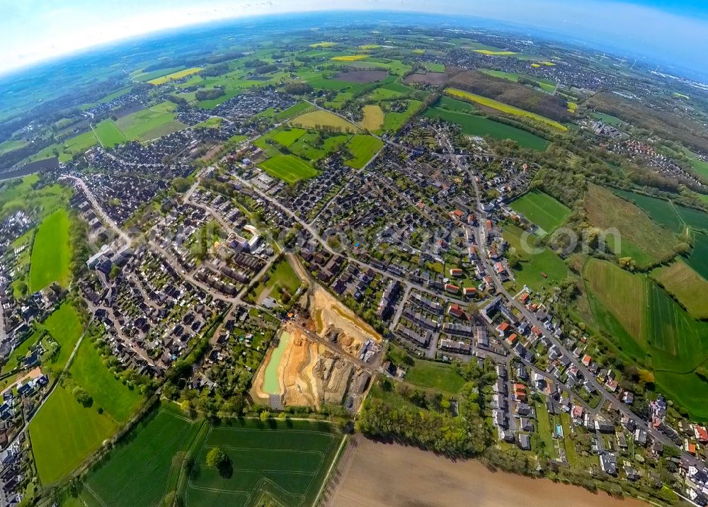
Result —
[[[445, 102], [443, 102], [444, 100]], [[428, 118], [440, 118], [441, 120], [455, 123], [462, 127], [462, 132], [467, 135], [480, 137], [489, 136], [493, 139], [511, 139], [517, 142], [520, 147], [535, 149], [539, 152], [545, 151], [549, 145], [546, 139], [538, 137], [526, 130], [499, 123], [489, 118], [484, 118], [484, 116], [476, 116], [452, 110], [452, 107], [459, 110], [461, 106], [452, 105], [447, 101], [454, 101], [458, 104], [463, 103], [462, 101], [456, 101], [454, 98], [443, 97], [440, 100], [441, 107], [428, 108], [426, 109], [425, 115], [428, 116]], [[443, 104], [446, 105], [446, 108], [442, 107]], [[475, 110], [471, 103], [465, 104], [469, 106], [470, 112]]]

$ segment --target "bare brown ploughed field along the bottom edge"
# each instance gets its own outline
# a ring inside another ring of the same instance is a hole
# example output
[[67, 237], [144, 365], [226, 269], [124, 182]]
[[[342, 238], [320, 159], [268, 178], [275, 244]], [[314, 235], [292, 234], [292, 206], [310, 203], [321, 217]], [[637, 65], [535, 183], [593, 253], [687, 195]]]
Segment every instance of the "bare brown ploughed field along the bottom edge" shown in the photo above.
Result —
[[355, 442], [358, 445], [350, 446], [353, 452], [340, 462], [341, 478], [328, 506], [647, 506], [549, 479], [490, 472], [479, 461], [454, 462], [433, 452], [366, 438]]

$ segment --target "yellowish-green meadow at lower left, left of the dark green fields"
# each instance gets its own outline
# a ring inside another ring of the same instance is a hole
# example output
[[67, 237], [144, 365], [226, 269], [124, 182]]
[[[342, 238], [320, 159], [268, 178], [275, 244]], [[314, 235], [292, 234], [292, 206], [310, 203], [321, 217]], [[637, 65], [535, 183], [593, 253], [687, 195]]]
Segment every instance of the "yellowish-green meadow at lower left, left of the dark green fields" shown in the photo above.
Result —
[[42, 485], [64, 478], [101, 447], [117, 427], [96, 407], [84, 407], [57, 387], [30, 422], [32, 452]]

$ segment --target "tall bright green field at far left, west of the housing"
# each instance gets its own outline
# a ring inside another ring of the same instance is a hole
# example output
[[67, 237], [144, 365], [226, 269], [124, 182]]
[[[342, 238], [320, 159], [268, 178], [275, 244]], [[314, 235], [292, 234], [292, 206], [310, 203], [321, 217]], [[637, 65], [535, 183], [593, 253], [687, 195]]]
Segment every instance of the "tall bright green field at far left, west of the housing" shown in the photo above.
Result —
[[53, 282], [67, 287], [71, 278], [71, 256], [69, 214], [67, 210], [57, 210], [42, 220], [35, 237], [30, 261], [29, 291], [42, 290]]

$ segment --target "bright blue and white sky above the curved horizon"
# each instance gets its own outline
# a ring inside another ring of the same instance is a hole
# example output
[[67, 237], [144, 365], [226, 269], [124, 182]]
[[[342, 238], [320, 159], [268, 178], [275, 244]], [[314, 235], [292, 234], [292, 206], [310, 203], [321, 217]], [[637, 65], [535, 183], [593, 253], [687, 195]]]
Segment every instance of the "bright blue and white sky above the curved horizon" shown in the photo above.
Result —
[[[418, 11], [496, 19], [708, 69], [706, 0], [0, 0], [0, 74], [158, 30], [268, 13]], [[616, 42], [616, 44], [615, 44]]]

